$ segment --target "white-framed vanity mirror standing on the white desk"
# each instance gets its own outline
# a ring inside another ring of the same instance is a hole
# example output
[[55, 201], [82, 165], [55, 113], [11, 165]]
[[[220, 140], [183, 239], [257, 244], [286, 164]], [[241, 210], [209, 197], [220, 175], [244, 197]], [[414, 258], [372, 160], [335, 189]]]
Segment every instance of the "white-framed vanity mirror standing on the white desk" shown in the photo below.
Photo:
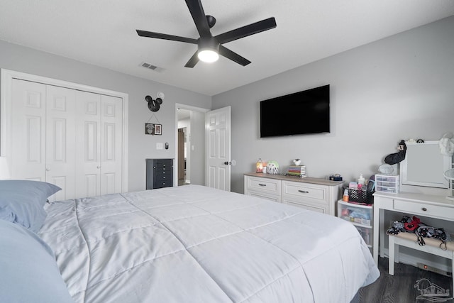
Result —
[[442, 155], [440, 141], [406, 142], [406, 156], [400, 163], [400, 180], [404, 185], [448, 188], [444, 172], [452, 167], [452, 157]]

